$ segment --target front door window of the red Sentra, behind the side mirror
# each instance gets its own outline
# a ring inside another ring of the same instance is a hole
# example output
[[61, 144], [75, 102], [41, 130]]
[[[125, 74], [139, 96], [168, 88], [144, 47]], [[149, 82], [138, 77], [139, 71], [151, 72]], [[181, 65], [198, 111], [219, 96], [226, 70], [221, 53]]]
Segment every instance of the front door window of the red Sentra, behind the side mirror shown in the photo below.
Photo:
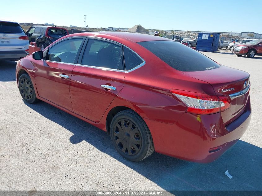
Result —
[[75, 58], [83, 38], [67, 39], [52, 46], [47, 53], [46, 60], [75, 63]]

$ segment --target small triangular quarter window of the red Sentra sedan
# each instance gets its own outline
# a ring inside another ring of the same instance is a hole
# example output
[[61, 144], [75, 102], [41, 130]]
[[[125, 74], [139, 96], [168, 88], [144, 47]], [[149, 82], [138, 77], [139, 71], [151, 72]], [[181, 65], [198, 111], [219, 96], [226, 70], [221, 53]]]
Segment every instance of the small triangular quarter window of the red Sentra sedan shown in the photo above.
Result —
[[143, 63], [143, 60], [127, 47], [124, 47], [124, 59], [126, 70], [131, 70]]

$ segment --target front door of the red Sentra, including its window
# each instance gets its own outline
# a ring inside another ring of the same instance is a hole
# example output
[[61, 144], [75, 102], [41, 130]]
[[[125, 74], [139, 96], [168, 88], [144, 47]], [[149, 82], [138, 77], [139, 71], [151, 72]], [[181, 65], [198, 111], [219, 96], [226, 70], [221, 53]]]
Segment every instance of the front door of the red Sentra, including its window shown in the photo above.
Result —
[[35, 84], [39, 96], [70, 111], [73, 111], [69, 92], [70, 79], [84, 39], [85, 37], [63, 39], [45, 50], [44, 59], [35, 63]]

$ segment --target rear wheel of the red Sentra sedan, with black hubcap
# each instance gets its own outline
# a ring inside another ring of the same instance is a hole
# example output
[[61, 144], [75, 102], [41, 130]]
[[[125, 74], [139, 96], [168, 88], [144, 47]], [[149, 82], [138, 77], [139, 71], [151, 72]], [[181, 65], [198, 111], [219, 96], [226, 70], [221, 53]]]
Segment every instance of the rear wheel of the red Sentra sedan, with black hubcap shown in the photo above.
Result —
[[110, 136], [118, 153], [130, 161], [141, 161], [155, 150], [147, 125], [132, 110], [118, 112], [113, 117]]

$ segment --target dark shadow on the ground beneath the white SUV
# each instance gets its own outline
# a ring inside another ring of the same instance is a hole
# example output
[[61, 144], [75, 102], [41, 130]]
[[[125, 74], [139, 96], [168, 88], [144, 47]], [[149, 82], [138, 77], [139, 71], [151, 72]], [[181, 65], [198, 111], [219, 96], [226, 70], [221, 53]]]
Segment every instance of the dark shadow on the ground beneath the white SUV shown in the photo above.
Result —
[[16, 81], [16, 61], [0, 60], [0, 81]]

